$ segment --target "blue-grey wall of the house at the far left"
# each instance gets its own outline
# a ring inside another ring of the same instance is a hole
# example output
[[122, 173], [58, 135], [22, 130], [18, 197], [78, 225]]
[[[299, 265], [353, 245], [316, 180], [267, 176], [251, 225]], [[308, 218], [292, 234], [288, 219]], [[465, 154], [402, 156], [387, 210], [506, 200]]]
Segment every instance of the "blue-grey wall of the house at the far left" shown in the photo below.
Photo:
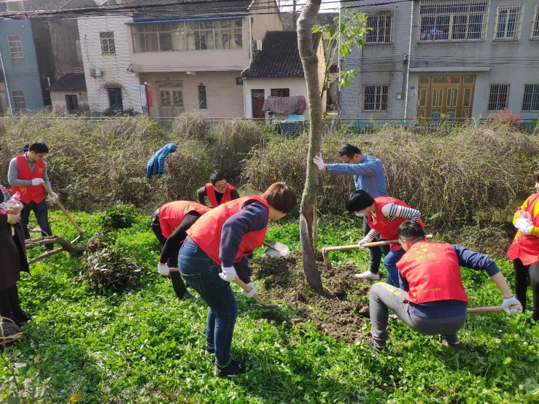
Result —
[[[8, 36], [18, 35], [23, 48], [23, 58], [11, 58]], [[42, 88], [36, 59], [36, 48], [32, 39], [29, 20], [0, 20], [0, 52], [4, 62], [4, 74], [9, 89], [9, 99], [13, 108], [13, 91], [24, 92], [26, 109], [43, 108]]]

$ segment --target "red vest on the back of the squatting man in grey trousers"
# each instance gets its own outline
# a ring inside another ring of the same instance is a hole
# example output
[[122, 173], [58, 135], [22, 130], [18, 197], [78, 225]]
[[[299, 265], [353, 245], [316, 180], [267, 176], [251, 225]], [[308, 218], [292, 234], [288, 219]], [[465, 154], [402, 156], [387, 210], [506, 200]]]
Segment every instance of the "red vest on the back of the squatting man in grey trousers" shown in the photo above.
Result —
[[411, 303], [468, 301], [459, 259], [450, 244], [416, 242], [397, 262], [397, 268], [410, 285], [406, 300]]

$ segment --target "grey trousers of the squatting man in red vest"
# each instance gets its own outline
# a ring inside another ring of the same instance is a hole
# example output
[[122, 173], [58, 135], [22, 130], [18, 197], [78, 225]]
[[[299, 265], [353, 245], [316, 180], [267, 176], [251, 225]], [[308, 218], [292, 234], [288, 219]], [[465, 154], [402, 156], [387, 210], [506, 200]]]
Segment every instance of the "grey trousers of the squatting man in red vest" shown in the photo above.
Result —
[[462, 328], [466, 314], [455, 317], [423, 318], [410, 312], [407, 293], [388, 283], [372, 285], [369, 295], [371, 334], [376, 345], [385, 346], [388, 339], [388, 317], [391, 310], [402, 321], [424, 335], [441, 335], [451, 343], [457, 342], [457, 331]]

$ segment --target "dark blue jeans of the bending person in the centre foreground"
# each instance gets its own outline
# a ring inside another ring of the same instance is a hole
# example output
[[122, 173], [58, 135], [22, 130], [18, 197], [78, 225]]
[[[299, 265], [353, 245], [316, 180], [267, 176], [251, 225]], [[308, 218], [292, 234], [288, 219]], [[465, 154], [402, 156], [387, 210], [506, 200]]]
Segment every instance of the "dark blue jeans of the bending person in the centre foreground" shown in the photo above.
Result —
[[178, 267], [185, 282], [210, 307], [206, 322], [206, 345], [215, 348], [217, 366], [228, 366], [232, 359], [230, 346], [238, 317], [238, 302], [230, 283], [219, 277], [221, 267], [190, 237], [185, 239], [179, 250]]

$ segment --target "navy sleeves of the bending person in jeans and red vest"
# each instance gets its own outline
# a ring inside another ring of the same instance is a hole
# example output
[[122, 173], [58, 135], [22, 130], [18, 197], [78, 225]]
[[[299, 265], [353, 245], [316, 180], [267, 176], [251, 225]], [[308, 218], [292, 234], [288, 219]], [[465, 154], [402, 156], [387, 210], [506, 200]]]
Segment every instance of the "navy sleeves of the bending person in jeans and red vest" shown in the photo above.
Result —
[[251, 268], [247, 258], [233, 262], [238, 248], [246, 233], [265, 228], [268, 224], [268, 208], [257, 200], [247, 201], [238, 213], [226, 219], [221, 231], [219, 258], [224, 267], [234, 267], [238, 277], [245, 283], [251, 282]]

